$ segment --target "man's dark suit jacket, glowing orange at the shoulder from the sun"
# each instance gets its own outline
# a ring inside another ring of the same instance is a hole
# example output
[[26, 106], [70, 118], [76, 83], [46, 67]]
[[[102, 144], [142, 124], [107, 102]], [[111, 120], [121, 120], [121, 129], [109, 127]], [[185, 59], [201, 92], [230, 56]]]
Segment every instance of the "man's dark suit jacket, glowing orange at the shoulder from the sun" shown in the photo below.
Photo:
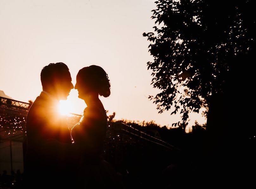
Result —
[[24, 173], [30, 181], [46, 177], [53, 180], [69, 170], [71, 134], [66, 120], [58, 113], [57, 104], [58, 100], [41, 92], [28, 111]]

